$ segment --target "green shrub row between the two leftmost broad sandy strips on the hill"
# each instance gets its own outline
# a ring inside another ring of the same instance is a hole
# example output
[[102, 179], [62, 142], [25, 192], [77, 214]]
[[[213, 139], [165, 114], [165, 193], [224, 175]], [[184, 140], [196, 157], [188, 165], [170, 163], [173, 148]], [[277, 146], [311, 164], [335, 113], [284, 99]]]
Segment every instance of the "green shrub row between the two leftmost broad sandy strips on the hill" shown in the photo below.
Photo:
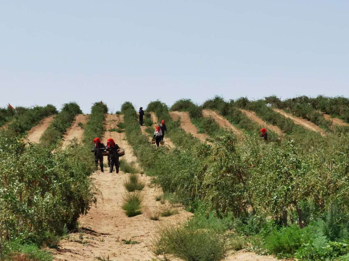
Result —
[[82, 113], [80, 106], [75, 102], [65, 103], [61, 111], [55, 116], [50, 126], [40, 137], [43, 146], [49, 146], [58, 142], [62, 135], [70, 127], [76, 114]]

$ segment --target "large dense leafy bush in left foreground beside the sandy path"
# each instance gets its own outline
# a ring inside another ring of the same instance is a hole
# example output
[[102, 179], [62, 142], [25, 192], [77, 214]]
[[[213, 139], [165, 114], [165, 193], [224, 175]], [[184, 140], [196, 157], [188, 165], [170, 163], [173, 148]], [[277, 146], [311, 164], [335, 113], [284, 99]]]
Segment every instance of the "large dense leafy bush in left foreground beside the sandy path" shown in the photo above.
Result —
[[[47, 233], [73, 229], [94, 201], [87, 178], [93, 164], [79, 147], [67, 150], [26, 146], [0, 137], [0, 217], [3, 237], [37, 244]], [[2, 240], [4, 239], [2, 238]]]

